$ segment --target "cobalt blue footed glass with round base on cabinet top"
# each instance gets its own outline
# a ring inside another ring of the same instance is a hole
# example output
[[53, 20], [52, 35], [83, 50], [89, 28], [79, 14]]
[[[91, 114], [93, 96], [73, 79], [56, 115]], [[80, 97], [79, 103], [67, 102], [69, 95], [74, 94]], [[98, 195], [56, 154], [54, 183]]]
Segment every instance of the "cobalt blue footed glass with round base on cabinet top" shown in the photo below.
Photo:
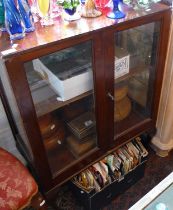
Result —
[[120, 19], [124, 18], [126, 15], [119, 10], [118, 5], [119, 5], [120, 0], [113, 0], [113, 9], [111, 12], [107, 13], [107, 17], [111, 19]]

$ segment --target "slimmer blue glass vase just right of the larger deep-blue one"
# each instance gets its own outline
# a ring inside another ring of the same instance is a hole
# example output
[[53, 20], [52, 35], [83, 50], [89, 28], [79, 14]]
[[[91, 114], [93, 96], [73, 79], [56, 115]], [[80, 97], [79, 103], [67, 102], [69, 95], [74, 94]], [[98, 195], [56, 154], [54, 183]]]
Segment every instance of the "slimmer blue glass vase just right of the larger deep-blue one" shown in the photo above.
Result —
[[28, 1], [18, 0], [18, 10], [20, 12], [22, 21], [25, 26], [25, 32], [28, 33], [34, 31], [35, 30], [34, 21]]

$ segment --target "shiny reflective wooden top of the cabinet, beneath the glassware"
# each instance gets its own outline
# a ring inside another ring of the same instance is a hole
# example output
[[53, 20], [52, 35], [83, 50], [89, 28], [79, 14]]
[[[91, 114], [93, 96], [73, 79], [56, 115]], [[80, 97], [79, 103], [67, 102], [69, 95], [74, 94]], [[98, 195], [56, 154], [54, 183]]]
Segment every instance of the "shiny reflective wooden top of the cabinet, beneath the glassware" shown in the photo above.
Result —
[[97, 18], [81, 18], [73, 22], [67, 22], [58, 17], [52, 26], [42, 27], [39, 23], [36, 23], [34, 32], [14, 42], [10, 42], [9, 36], [3, 32], [0, 37], [0, 59], [6, 60], [39, 48], [48, 47], [50, 44], [74, 38], [75, 36], [85, 35], [110, 26], [118, 27], [118, 25], [131, 20], [170, 10], [169, 6], [161, 3], [152, 4], [147, 10], [141, 9], [137, 11], [124, 5], [120, 5], [120, 7], [126, 13], [124, 19], [114, 20], [107, 18], [107, 11]]

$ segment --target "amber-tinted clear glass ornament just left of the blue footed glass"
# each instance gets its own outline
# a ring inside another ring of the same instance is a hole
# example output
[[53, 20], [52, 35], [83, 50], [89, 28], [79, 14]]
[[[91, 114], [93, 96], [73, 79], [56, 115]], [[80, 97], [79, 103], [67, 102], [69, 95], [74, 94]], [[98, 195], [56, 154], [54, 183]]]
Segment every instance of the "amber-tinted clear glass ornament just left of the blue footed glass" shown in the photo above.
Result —
[[82, 8], [83, 17], [98, 17], [101, 14], [102, 12], [96, 9], [94, 0], [86, 0]]

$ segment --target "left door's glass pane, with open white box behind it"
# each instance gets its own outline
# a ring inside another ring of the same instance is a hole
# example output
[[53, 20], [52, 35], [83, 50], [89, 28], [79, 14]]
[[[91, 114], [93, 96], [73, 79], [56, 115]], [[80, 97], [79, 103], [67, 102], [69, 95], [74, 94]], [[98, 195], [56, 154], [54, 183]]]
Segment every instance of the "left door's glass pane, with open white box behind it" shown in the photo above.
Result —
[[25, 63], [54, 175], [97, 146], [92, 63], [91, 41]]

